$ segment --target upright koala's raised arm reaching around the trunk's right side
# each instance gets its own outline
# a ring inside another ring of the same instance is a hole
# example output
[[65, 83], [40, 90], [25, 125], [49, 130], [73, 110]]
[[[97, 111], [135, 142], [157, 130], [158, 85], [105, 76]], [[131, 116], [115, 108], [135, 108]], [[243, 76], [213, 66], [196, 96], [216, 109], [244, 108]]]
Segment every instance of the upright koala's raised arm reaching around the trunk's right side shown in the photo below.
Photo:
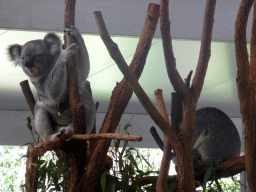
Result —
[[74, 37], [76, 39], [76, 43], [79, 46], [78, 50], [78, 61], [77, 61], [77, 68], [78, 68], [78, 82], [81, 85], [85, 82], [89, 75], [90, 71], [90, 62], [89, 62], [89, 55], [84, 43], [84, 39], [78, 29], [71, 25], [65, 29], [65, 32], [68, 35]]

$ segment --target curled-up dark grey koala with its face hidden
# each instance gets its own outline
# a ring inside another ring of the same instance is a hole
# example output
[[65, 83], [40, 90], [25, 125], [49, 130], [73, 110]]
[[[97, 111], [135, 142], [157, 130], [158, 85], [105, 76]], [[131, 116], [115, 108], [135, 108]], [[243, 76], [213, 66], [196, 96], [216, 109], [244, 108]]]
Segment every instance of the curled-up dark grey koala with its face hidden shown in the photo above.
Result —
[[[180, 128], [182, 127], [182, 123]], [[205, 107], [196, 111], [196, 127], [193, 145], [194, 168], [220, 164], [239, 156], [241, 140], [232, 120], [221, 110]], [[172, 160], [178, 166], [175, 154]]]

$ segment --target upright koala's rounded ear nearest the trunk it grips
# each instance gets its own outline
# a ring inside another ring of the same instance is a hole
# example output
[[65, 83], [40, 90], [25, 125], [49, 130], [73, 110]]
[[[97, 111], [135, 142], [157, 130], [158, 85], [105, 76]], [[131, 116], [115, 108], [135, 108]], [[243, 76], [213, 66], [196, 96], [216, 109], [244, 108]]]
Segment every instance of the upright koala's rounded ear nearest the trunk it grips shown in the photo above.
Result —
[[58, 55], [60, 54], [61, 41], [60, 38], [54, 33], [48, 33], [44, 37], [44, 42], [48, 49], [50, 49], [51, 54]]

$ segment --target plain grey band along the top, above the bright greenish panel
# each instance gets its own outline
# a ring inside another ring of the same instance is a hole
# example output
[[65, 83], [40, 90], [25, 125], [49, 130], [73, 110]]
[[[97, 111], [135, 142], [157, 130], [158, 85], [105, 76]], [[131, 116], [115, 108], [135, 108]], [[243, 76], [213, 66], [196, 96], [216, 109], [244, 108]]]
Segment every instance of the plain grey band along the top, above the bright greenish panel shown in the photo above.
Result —
[[[206, 0], [170, 0], [171, 33], [178, 39], [201, 39]], [[241, 0], [218, 0], [213, 28], [214, 41], [233, 41]], [[160, 0], [77, 0], [76, 26], [81, 32], [98, 34], [93, 16], [101, 11], [111, 35], [139, 36], [149, 3]], [[249, 29], [252, 26], [252, 14]], [[25, 30], [63, 31], [63, 0], [1, 0], [0, 27]], [[251, 30], [247, 31], [250, 39]], [[160, 37], [159, 26], [156, 36]]]

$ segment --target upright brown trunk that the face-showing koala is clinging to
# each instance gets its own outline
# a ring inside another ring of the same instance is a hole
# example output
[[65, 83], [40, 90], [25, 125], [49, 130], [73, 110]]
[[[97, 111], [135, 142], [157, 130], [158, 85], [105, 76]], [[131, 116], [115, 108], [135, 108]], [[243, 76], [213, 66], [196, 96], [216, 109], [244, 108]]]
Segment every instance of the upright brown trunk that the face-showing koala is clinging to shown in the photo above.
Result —
[[[65, 15], [64, 28], [75, 25], [75, 5], [76, 0], [65, 0]], [[75, 43], [75, 39], [65, 33], [65, 47], [71, 43]], [[86, 64], [88, 65], [88, 63]], [[79, 86], [77, 78], [77, 54], [72, 56], [67, 63], [67, 86], [68, 98], [70, 104], [70, 113], [72, 115], [72, 122], [74, 127], [74, 134], [86, 133], [85, 124], [85, 108], [79, 97]], [[87, 142], [73, 141], [69, 148], [71, 152], [71, 172], [70, 172], [70, 189], [69, 191], [80, 190], [84, 186], [81, 182], [81, 177], [85, 172], [85, 165], [87, 164]], [[80, 182], [80, 185], [78, 183]]]

